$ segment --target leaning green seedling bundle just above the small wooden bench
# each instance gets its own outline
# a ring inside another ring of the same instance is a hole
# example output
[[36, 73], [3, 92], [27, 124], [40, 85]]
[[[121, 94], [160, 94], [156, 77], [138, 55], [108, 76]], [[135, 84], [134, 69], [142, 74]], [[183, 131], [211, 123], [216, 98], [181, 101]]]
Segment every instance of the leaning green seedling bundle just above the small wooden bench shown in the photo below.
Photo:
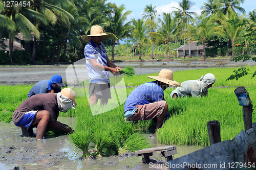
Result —
[[134, 133], [122, 143], [122, 148], [118, 153], [125, 153], [128, 150], [135, 152], [150, 147], [152, 147], [151, 144], [141, 133]]

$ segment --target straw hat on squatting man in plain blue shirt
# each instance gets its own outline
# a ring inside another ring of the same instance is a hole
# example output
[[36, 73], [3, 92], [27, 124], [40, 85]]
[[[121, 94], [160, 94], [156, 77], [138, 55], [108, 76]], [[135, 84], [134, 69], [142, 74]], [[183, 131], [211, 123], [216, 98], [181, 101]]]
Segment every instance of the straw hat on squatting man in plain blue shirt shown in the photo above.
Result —
[[160, 82], [163, 82], [165, 84], [181, 87], [182, 85], [176, 81], [174, 81], [174, 74], [173, 71], [170, 69], [162, 69], [158, 76], [147, 76], [148, 78], [158, 80]]

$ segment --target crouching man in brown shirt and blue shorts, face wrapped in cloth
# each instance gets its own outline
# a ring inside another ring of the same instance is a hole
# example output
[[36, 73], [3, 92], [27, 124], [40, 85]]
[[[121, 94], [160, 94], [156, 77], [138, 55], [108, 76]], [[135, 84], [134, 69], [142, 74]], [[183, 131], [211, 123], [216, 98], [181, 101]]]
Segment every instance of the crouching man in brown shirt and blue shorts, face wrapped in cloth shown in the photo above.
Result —
[[[76, 93], [70, 88], [64, 88], [58, 93], [42, 93], [25, 100], [12, 115], [15, 126], [21, 127], [24, 136], [33, 137], [33, 128], [36, 127], [36, 139], [42, 139], [47, 127], [65, 133], [73, 132], [66, 124], [57, 121], [59, 111], [67, 112], [75, 109]], [[26, 135], [27, 134], [27, 135]]]

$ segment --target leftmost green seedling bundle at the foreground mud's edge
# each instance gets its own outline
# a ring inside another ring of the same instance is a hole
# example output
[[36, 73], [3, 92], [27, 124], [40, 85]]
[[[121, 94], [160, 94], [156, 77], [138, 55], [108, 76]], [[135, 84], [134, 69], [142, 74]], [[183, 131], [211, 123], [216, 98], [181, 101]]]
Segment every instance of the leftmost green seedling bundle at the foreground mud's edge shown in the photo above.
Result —
[[[92, 141], [93, 135], [91, 129], [84, 129], [83, 131], [75, 131], [74, 133], [69, 134], [69, 141], [73, 143], [75, 147], [74, 155], [77, 155], [82, 151], [82, 158], [92, 158], [89, 150], [90, 142]], [[73, 156], [74, 156], [73, 155]]]

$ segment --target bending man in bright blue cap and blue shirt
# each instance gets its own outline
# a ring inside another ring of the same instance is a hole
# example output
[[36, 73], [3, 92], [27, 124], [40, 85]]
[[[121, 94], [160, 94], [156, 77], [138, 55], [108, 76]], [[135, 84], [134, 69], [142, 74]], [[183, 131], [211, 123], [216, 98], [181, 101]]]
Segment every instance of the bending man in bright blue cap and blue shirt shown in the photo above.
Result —
[[51, 80], [41, 80], [36, 83], [29, 91], [28, 98], [35, 94], [41, 93], [58, 93], [61, 87], [64, 86], [62, 78], [59, 75], [54, 75]]

